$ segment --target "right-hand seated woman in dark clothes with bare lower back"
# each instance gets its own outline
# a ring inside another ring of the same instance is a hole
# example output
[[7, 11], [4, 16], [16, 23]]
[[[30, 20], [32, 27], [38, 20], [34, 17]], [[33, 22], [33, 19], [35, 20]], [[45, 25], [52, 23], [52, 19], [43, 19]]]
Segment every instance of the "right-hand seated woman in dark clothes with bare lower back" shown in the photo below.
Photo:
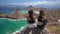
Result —
[[44, 28], [45, 25], [47, 24], [47, 17], [43, 10], [40, 10], [37, 20], [38, 20], [37, 28]]

